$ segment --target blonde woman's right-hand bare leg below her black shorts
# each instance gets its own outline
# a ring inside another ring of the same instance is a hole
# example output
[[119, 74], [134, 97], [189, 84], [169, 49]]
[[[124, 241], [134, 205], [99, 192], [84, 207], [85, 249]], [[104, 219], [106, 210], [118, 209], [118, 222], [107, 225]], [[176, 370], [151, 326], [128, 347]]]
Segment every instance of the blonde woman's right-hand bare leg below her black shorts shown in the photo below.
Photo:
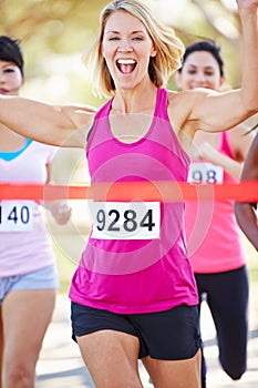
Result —
[[166, 361], [145, 357], [143, 365], [155, 388], [200, 388], [200, 350], [195, 357]]

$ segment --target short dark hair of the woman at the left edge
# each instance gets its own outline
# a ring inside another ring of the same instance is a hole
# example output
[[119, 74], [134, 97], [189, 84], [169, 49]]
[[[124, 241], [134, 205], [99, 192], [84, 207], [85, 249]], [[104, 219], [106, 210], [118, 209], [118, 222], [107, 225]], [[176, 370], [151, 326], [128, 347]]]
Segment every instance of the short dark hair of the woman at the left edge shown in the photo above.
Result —
[[0, 60], [16, 63], [23, 75], [23, 57], [19, 44], [19, 39], [0, 35]]

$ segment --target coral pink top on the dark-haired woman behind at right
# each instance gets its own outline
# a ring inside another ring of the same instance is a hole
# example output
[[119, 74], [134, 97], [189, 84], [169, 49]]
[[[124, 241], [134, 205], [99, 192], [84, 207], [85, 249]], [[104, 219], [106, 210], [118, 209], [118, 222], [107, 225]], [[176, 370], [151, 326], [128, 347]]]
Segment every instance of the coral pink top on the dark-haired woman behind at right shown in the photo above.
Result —
[[[228, 132], [219, 133], [218, 151], [236, 160]], [[217, 184], [238, 182], [221, 167], [210, 164], [207, 164], [205, 173], [207, 181], [216, 174], [218, 176], [219, 170], [221, 177]], [[245, 248], [234, 213], [234, 201], [187, 202], [185, 217], [188, 255], [195, 273], [221, 273], [245, 265]]]

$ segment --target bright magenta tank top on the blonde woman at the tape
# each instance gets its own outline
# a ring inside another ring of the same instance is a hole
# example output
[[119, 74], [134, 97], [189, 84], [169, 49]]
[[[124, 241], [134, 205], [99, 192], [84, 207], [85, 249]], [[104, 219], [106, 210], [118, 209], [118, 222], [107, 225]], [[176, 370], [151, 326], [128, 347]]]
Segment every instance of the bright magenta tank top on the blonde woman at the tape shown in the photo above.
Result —
[[[97, 112], [86, 147], [92, 183], [151, 182], [157, 186], [156, 181], [186, 181], [189, 157], [171, 126], [167, 92], [157, 90], [152, 124], [145, 136], [131, 144], [112, 134], [109, 123], [112, 101]], [[99, 229], [92, 229], [73, 276], [70, 289], [73, 302], [117, 314], [197, 304], [194, 274], [186, 255], [183, 202], [96, 201], [89, 208]], [[141, 223], [142, 232], [136, 233]]]

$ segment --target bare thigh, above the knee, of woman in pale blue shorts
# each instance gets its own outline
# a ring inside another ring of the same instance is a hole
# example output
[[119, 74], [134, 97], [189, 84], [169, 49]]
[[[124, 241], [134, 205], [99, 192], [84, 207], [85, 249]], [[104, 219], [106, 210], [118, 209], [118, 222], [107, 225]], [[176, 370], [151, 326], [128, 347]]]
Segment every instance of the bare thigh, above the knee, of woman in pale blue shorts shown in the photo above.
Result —
[[2, 303], [6, 366], [37, 363], [54, 303], [54, 288], [19, 289], [6, 296]]

